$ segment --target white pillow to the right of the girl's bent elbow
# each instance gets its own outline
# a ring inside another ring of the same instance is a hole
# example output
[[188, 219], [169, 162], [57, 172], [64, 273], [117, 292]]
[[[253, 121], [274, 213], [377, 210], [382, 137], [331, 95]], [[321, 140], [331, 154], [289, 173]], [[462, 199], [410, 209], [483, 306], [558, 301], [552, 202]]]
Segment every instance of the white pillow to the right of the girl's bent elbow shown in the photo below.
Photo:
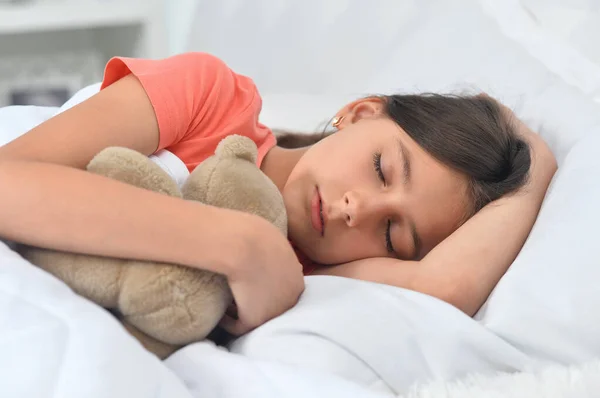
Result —
[[600, 356], [599, 204], [597, 128], [569, 153], [525, 247], [478, 315], [532, 358]]

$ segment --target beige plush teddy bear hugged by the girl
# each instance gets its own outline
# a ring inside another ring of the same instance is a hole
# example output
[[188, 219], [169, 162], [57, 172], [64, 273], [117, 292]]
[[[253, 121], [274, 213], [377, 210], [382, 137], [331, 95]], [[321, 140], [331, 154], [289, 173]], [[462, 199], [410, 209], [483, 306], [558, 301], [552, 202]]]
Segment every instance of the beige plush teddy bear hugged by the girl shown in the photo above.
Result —
[[[194, 169], [181, 190], [150, 159], [125, 148], [105, 149], [87, 170], [186, 200], [256, 214], [286, 235], [283, 198], [256, 166], [256, 157], [252, 140], [229, 136], [221, 141], [215, 155]], [[205, 227], [209, 228], [198, 220], [198, 228]], [[208, 271], [31, 246], [18, 250], [76, 293], [119, 314], [127, 330], [160, 358], [204, 339], [232, 303], [226, 278]]]

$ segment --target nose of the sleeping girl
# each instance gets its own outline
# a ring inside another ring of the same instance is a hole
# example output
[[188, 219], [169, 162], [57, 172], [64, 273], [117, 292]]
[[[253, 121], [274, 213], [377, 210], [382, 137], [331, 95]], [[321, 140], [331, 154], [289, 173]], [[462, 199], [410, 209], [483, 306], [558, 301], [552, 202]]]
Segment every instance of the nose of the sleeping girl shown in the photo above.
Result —
[[340, 217], [349, 227], [356, 227], [366, 220], [380, 220], [394, 212], [393, 200], [386, 195], [348, 191], [340, 200]]

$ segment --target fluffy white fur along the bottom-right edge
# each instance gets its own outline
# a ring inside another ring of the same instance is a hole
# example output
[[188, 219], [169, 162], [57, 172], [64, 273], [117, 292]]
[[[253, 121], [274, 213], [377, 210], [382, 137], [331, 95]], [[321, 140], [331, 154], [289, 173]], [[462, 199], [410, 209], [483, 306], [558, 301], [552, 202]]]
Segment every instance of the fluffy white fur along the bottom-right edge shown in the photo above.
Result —
[[600, 360], [537, 372], [472, 375], [414, 386], [402, 398], [592, 398], [600, 396]]

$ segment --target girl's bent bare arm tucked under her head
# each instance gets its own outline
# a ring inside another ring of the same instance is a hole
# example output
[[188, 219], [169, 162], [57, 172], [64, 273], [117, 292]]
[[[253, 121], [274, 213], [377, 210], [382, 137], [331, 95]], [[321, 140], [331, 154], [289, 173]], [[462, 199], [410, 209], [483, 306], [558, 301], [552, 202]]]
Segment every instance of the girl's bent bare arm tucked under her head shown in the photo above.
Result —
[[542, 139], [520, 126], [530, 144], [532, 165], [529, 183], [519, 192], [484, 207], [421, 261], [368, 259], [318, 273], [419, 291], [473, 316], [525, 244], [557, 168]]

